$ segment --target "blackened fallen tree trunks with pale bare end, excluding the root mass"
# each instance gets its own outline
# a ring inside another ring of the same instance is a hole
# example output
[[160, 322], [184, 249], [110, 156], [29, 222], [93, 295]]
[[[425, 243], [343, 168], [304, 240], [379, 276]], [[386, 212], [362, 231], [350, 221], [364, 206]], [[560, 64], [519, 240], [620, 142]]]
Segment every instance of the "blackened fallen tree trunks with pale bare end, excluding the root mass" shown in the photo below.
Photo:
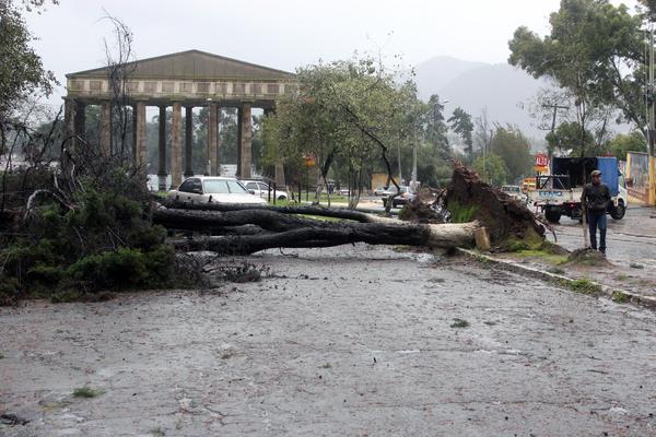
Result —
[[[367, 214], [363, 214], [367, 215]], [[430, 248], [470, 247], [478, 223], [420, 225], [372, 216], [375, 223], [320, 222], [267, 210], [210, 212], [159, 209], [153, 222], [169, 229], [225, 232], [238, 235], [174, 241], [180, 250], [249, 255], [270, 248], [330, 247], [354, 243]], [[250, 225], [250, 226], [248, 226]], [[247, 227], [244, 227], [247, 226]], [[262, 229], [257, 232], [255, 226]], [[247, 232], [241, 232], [247, 229]], [[247, 235], [245, 235], [247, 234]]]

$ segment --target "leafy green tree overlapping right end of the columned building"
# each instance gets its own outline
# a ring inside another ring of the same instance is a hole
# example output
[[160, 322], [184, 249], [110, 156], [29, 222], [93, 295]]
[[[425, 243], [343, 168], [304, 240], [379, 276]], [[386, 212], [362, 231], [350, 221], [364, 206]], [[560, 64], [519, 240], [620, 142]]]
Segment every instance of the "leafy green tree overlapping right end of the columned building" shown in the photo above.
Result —
[[[372, 156], [382, 157], [391, 176], [386, 144], [408, 141], [425, 126], [421, 121], [425, 111], [417, 110], [414, 84], [398, 85], [395, 74], [375, 59], [318, 63], [300, 69], [297, 78], [298, 92], [281, 102], [276, 116], [265, 122], [265, 135], [270, 140], [266, 156], [273, 162], [281, 155], [288, 167], [300, 165], [304, 156], [313, 157], [317, 165], [315, 201], [339, 157], [347, 158], [358, 175], [358, 187], [371, 168]], [[393, 179], [393, 184], [398, 181]]]

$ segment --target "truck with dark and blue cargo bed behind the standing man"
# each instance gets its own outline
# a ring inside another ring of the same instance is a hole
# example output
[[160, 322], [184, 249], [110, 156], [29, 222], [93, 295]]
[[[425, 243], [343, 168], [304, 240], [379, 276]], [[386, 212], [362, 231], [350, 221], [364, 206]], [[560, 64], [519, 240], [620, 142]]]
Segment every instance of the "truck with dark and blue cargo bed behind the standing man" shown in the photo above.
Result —
[[626, 181], [614, 156], [553, 157], [551, 174], [536, 176], [536, 189], [528, 191], [529, 204], [541, 210], [547, 221], [558, 223], [561, 216], [582, 220], [581, 196], [590, 181], [593, 170], [601, 172], [601, 181], [610, 190], [607, 213], [621, 220], [628, 205]]

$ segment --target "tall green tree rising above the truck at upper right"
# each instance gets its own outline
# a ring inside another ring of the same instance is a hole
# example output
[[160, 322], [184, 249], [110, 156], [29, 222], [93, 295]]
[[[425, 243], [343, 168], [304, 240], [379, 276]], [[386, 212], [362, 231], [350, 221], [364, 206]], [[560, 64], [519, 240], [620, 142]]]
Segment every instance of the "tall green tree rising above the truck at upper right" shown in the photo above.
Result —
[[522, 26], [508, 43], [508, 62], [569, 90], [586, 143], [590, 110], [609, 105], [645, 131], [643, 16], [608, 0], [562, 0], [544, 37]]

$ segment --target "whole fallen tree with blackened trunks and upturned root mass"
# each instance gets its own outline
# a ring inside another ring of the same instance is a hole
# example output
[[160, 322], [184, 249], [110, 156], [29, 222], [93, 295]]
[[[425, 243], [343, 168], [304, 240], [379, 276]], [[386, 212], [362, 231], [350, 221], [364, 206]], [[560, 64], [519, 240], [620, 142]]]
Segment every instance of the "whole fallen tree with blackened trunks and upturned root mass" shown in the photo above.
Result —
[[[329, 247], [354, 243], [429, 248], [496, 248], [507, 241], [542, 241], [544, 226], [525, 205], [455, 163], [452, 181], [424, 192], [400, 214], [409, 221], [317, 205], [250, 205], [164, 202], [153, 223], [200, 233], [173, 241], [176, 250], [248, 255], [269, 248]], [[320, 221], [303, 216], [340, 221]], [[456, 223], [445, 223], [453, 221]], [[488, 234], [489, 229], [489, 234]], [[189, 236], [189, 234], [187, 234]], [[476, 236], [476, 238], [475, 238]], [[491, 237], [491, 238], [490, 238]], [[483, 241], [483, 244], [481, 244]]]

